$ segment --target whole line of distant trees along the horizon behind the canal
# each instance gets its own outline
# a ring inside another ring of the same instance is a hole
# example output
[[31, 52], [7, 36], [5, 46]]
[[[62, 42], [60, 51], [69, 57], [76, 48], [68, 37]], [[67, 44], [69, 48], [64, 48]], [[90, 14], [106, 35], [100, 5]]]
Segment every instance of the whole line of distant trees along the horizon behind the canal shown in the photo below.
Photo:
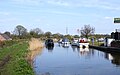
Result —
[[80, 30], [78, 35], [63, 35], [60, 33], [52, 34], [51, 32], [43, 32], [40, 28], [34, 28], [31, 29], [29, 32], [28, 30], [22, 26], [22, 25], [17, 25], [13, 31], [13, 34], [10, 34], [10, 32], [5, 32], [5, 34], [11, 36], [13, 39], [29, 39], [29, 38], [41, 38], [41, 39], [46, 39], [46, 38], [63, 38], [67, 37], [68, 39], [72, 38], [100, 38], [104, 37], [103, 35], [100, 34], [94, 34], [95, 33], [95, 28], [91, 27], [90, 25], [84, 25]]

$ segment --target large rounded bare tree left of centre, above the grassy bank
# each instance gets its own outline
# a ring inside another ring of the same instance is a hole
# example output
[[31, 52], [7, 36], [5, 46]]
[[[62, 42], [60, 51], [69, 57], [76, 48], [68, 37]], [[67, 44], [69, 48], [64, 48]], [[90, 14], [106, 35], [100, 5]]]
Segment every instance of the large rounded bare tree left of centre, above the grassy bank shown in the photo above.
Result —
[[22, 25], [18, 25], [14, 30], [14, 34], [18, 35], [19, 37], [23, 37], [27, 34], [27, 29]]

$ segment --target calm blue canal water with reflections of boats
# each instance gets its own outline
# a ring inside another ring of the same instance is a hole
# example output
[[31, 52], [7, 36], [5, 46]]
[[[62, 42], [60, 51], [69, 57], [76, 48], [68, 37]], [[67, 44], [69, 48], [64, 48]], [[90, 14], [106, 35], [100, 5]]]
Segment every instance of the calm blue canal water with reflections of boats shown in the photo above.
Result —
[[55, 44], [34, 59], [36, 75], [120, 75], [120, 54]]

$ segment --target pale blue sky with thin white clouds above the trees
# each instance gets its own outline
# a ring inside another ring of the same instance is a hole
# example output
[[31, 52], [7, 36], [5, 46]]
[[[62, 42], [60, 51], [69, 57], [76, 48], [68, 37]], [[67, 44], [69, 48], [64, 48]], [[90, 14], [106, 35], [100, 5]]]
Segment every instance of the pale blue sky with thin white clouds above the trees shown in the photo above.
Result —
[[110, 34], [120, 28], [120, 0], [0, 0], [0, 32], [13, 32], [17, 25], [28, 31], [76, 35], [84, 25], [96, 34]]

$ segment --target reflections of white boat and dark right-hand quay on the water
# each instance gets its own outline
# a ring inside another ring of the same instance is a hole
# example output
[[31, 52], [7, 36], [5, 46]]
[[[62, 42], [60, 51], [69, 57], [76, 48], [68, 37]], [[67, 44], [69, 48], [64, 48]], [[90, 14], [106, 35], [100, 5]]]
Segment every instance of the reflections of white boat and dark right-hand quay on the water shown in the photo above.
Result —
[[[95, 55], [95, 50], [94, 49], [89, 49], [89, 48], [78, 48], [76, 46], [71, 46], [71, 48], [73, 49], [73, 52], [77, 52], [80, 53], [80, 56], [91, 56], [91, 55]], [[106, 58], [107, 60], [111, 61], [112, 64], [115, 64], [117, 67], [120, 67], [120, 54], [119, 53], [101, 53], [99, 50], [97, 52], [98, 56], [102, 56], [104, 58]]]

